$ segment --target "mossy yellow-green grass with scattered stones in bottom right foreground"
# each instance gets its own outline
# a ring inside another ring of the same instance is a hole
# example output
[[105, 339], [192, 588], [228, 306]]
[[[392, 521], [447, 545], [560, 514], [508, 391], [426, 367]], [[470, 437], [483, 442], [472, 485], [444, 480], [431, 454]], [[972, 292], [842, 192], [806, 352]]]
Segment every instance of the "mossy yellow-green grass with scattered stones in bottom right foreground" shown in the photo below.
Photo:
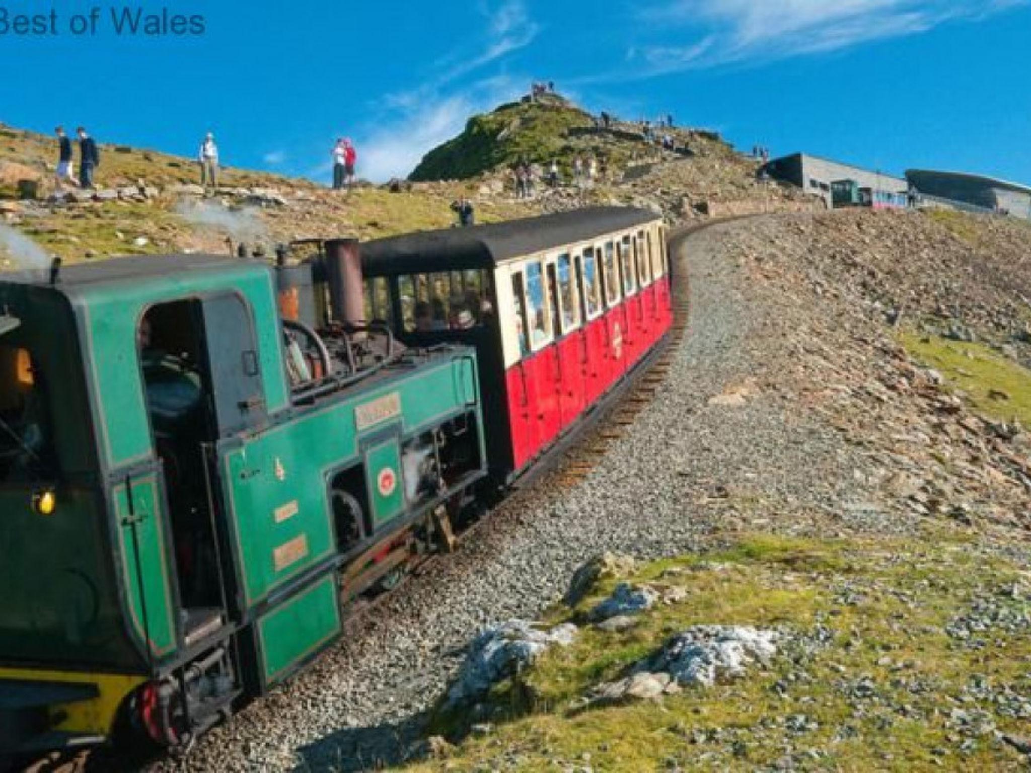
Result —
[[[550, 650], [466, 717], [493, 722], [493, 732], [408, 769], [1022, 765], [993, 731], [1026, 732], [1027, 717], [1013, 707], [1031, 710], [1031, 626], [1019, 624], [1029, 602], [1012, 589], [1031, 593], [1031, 584], [1020, 567], [984, 553], [968, 536], [932, 525], [911, 541], [752, 537], [607, 578], [576, 609], [553, 609], [548, 621], [580, 619], [620, 580], [687, 594], [624, 633], [584, 627], [572, 646]], [[957, 621], [971, 615], [985, 625], [957, 636]], [[775, 627], [790, 638], [769, 668], [754, 667], [745, 678], [657, 703], [583, 709], [578, 699], [592, 686], [701, 624]], [[462, 719], [438, 714], [432, 730], [459, 740]]]

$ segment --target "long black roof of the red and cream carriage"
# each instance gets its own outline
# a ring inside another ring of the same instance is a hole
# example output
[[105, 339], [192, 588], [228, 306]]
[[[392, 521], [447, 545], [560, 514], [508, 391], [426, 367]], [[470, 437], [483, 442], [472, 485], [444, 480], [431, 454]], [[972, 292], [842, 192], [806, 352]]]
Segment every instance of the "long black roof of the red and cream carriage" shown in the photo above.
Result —
[[362, 266], [366, 276], [492, 268], [512, 258], [652, 223], [659, 216], [634, 207], [590, 207], [487, 226], [424, 231], [362, 244]]

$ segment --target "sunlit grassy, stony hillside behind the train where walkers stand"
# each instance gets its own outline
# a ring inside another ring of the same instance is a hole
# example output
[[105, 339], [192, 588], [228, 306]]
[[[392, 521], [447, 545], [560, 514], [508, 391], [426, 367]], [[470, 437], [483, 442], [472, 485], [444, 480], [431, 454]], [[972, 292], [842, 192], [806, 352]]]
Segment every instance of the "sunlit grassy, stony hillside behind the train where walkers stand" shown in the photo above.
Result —
[[[225, 169], [217, 196], [203, 207], [217, 216], [192, 217], [197, 199], [178, 187], [198, 181], [192, 159], [157, 150], [101, 145], [97, 186], [114, 192], [145, 187], [145, 199], [55, 202], [53, 138], [0, 125], [0, 227], [13, 228], [48, 255], [68, 262], [112, 256], [226, 249], [226, 237], [271, 246], [298, 238], [357, 236], [372, 239], [411, 231], [446, 228], [451, 203], [476, 197], [475, 183], [431, 183], [391, 192], [363, 184], [350, 192], [327, 190], [310, 180], [267, 172]], [[18, 200], [18, 181], [37, 179], [39, 198]], [[272, 192], [274, 203], [256, 203], [254, 191]], [[536, 204], [499, 197], [476, 200], [480, 222], [510, 220], [539, 211]], [[18, 256], [0, 239], [0, 270], [14, 268]]]

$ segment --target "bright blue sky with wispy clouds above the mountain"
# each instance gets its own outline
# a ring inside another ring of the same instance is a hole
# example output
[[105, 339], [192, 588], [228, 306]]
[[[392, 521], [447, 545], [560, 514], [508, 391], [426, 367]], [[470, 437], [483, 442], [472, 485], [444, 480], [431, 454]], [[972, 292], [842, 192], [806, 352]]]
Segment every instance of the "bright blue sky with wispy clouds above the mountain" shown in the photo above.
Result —
[[744, 148], [1031, 183], [1031, 0], [167, 0], [204, 16], [185, 37], [113, 34], [120, 3], [0, 2], [101, 9], [96, 37], [0, 36], [0, 122], [181, 154], [210, 129], [226, 163], [317, 179], [345, 135], [386, 179], [551, 79]]

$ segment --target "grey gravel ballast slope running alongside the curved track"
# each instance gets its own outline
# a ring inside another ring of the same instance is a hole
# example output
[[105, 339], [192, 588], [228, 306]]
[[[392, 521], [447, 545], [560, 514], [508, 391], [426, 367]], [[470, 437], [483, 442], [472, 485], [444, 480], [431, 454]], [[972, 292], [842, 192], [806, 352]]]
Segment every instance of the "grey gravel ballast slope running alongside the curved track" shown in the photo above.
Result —
[[775, 307], [752, 293], [744, 265], [721, 248], [742, 227], [717, 226], [686, 241], [690, 332], [659, 399], [583, 483], [544, 479], [504, 503], [473, 544], [412, 579], [308, 672], [199, 741], [181, 769], [400, 762], [476, 631], [532, 618], [591, 556], [685, 552], [727, 529], [766, 528], [773, 510], [788, 513], [778, 528], [804, 530], [841, 503], [860, 502], [853, 489], [863, 461], [853, 447], [800, 417], [790, 395], [755, 385], [776, 372], [787, 344], [768, 335], [777, 329]]

